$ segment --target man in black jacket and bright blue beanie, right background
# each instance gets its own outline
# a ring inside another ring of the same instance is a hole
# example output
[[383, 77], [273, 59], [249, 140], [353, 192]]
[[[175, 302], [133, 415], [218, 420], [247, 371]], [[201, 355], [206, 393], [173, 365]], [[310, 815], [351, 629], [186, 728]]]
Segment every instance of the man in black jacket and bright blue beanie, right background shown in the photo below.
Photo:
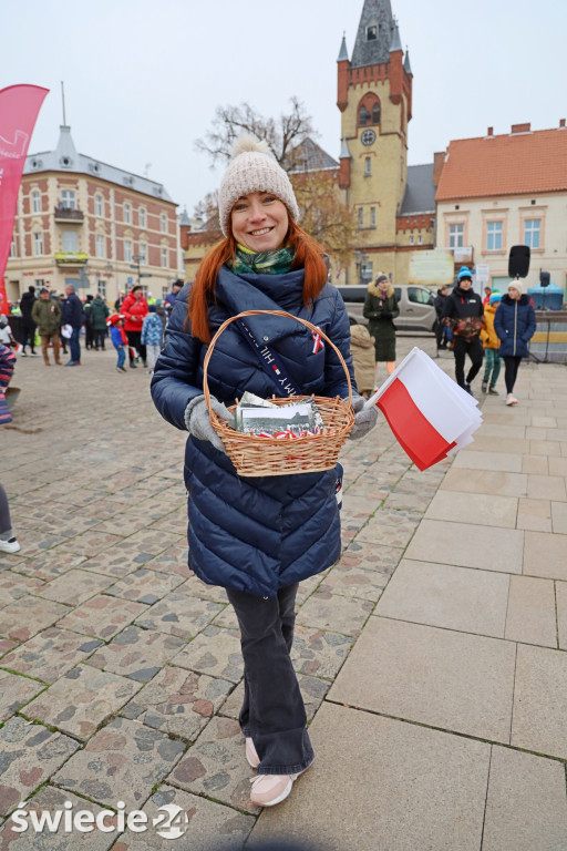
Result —
[[[484, 325], [484, 308], [481, 296], [473, 291], [473, 276], [466, 266], [461, 267], [453, 291], [447, 296], [443, 321], [453, 331], [456, 382], [474, 396], [471, 383], [483, 365], [484, 356], [480, 339]], [[471, 358], [471, 368], [465, 379], [466, 355]]]

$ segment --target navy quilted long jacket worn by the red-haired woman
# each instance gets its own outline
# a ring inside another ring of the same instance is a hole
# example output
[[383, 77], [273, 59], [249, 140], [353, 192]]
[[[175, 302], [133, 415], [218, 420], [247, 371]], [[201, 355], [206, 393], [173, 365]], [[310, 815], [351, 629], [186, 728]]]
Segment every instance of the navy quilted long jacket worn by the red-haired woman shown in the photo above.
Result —
[[[340, 349], [353, 380], [350, 326], [338, 290], [326, 285], [310, 309], [301, 301], [303, 271], [235, 275], [223, 267], [212, 331], [243, 310], [286, 310], [318, 326]], [[177, 296], [165, 345], [155, 366], [152, 398], [161, 414], [185, 429], [188, 402], [203, 393], [207, 346], [184, 327], [189, 285]], [[313, 352], [309, 329], [285, 317], [247, 319], [256, 339], [269, 345], [303, 393], [346, 397], [347, 378], [329, 347]], [[275, 385], [235, 324], [215, 345], [208, 366], [210, 393], [233, 404], [245, 390], [269, 398]], [[353, 386], [354, 387], [354, 386]], [[276, 392], [277, 394], [277, 392]], [[189, 567], [212, 585], [276, 596], [278, 588], [324, 571], [340, 554], [336, 472], [238, 476], [231, 461], [208, 441], [187, 439]]]

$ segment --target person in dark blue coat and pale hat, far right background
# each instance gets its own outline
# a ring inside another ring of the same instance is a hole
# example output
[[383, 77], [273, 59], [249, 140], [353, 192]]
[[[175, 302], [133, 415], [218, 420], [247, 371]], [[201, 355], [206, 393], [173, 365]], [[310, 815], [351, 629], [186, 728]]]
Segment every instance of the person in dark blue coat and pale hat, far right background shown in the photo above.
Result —
[[536, 315], [529, 299], [522, 291], [522, 283], [516, 278], [508, 285], [508, 293], [502, 297], [494, 314], [494, 330], [501, 341], [498, 355], [504, 358], [504, 382], [506, 385], [506, 404], [517, 404], [514, 385], [522, 358], [528, 356], [528, 342], [536, 330]]

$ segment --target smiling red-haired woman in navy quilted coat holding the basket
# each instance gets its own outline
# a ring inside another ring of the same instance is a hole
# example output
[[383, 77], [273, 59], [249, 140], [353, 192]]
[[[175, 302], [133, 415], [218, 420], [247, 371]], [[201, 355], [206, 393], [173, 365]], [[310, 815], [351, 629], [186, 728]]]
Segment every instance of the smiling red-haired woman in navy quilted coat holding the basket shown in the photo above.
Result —
[[[189, 437], [185, 454], [189, 567], [226, 588], [235, 608], [245, 660], [240, 726], [245, 755], [257, 769], [250, 799], [270, 807], [289, 794], [313, 760], [307, 717], [290, 658], [295, 599], [301, 580], [340, 554], [337, 472], [238, 476], [214, 431], [203, 396], [203, 362], [214, 332], [245, 310], [286, 310], [319, 327], [344, 357], [353, 381], [350, 326], [338, 290], [327, 284], [321, 249], [299, 227], [286, 172], [265, 143], [237, 140], [219, 189], [224, 239], [202, 260], [195, 283], [177, 296], [151, 390], [162, 416]], [[251, 316], [248, 329], [305, 394], [348, 397], [336, 352], [292, 319]], [[207, 369], [212, 408], [245, 390], [278, 392], [237, 322], [219, 336]], [[350, 437], [377, 422], [353, 396]]]

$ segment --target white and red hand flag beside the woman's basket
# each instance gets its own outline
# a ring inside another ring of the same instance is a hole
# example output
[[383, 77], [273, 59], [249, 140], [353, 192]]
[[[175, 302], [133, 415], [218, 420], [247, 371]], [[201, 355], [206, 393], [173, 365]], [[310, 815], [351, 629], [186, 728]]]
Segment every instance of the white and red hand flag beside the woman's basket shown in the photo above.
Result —
[[364, 407], [377, 404], [420, 470], [473, 441], [482, 423], [476, 400], [413, 348]]

